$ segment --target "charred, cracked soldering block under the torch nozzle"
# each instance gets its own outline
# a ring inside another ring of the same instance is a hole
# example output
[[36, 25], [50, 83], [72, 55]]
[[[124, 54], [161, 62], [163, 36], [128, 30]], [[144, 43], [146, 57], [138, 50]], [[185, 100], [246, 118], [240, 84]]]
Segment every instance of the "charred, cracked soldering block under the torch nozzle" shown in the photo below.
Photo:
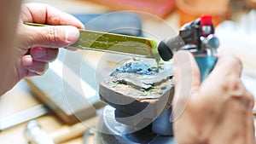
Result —
[[150, 66], [150, 63], [147, 63], [148, 67], [132, 67], [134, 62], [143, 61], [128, 63], [130, 67], [126, 67], [125, 72], [120, 72], [124, 67], [117, 68], [99, 86], [101, 100], [116, 108], [115, 117], [123, 124], [136, 124], [156, 118], [171, 107], [174, 93], [172, 64], [162, 66], [157, 72], [153, 71], [155, 67]]

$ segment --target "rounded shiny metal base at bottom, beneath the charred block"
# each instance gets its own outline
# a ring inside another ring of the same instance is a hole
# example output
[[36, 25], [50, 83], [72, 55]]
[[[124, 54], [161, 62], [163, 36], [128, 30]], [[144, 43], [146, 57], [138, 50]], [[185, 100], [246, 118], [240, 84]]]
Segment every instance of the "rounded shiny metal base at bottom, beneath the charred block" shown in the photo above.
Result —
[[107, 106], [98, 124], [96, 144], [176, 144], [173, 136], [156, 135], [152, 132], [152, 124], [137, 129], [120, 124], [114, 118], [114, 108]]

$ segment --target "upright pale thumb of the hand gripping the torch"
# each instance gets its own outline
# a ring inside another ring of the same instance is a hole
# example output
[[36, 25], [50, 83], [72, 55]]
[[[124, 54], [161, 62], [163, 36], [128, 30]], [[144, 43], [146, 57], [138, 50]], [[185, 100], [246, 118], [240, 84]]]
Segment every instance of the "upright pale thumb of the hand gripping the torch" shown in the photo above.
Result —
[[200, 87], [200, 71], [193, 55], [187, 51], [178, 51], [174, 55], [173, 69], [175, 78], [175, 95], [172, 100], [173, 120], [183, 112], [190, 95]]

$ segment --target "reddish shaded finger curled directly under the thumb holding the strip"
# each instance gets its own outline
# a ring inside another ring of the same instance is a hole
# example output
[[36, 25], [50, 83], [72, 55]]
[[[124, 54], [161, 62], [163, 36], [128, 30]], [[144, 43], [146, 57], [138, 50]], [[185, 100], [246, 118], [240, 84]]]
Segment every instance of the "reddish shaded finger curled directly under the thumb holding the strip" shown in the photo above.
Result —
[[35, 47], [30, 50], [30, 55], [33, 60], [41, 62], [51, 62], [58, 56], [59, 49], [50, 49], [43, 47]]

